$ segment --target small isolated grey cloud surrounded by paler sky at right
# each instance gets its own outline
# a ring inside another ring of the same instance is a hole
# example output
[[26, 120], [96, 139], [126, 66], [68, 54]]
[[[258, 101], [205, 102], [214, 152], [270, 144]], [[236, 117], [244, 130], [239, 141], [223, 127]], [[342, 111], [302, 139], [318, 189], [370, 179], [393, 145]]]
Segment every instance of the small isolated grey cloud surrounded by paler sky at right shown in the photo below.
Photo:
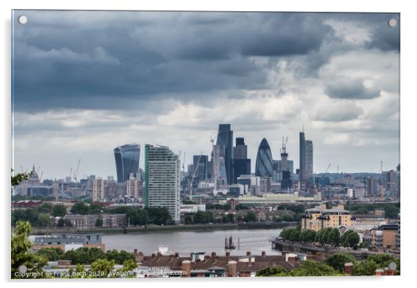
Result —
[[365, 87], [362, 80], [345, 80], [327, 84], [326, 94], [330, 98], [341, 99], [371, 99], [380, 96], [381, 91], [374, 87]]

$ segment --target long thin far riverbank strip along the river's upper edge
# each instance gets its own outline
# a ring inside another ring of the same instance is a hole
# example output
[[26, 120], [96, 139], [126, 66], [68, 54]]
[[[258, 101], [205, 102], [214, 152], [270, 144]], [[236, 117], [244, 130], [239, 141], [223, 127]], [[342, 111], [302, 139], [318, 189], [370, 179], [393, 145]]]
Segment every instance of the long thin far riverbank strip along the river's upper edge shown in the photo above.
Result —
[[46, 235], [51, 233], [103, 233], [103, 234], [125, 234], [125, 233], [148, 233], [148, 232], [175, 232], [175, 231], [215, 231], [215, 230], [237, 230], [237, 229], [270, 229], [296, 226], [299, 222], [254, 222], [239, 224], [179, 224], [168, 226], [132, 226], [123, 228], [33, 228], [33, 235]]

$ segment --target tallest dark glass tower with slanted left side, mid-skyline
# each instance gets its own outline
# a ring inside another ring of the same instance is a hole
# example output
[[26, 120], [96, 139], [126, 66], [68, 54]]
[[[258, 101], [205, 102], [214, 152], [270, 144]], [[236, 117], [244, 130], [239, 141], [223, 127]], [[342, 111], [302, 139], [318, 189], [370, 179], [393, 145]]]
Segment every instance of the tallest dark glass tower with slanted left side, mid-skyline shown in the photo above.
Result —
[[220, 146], [220, 156], [224, 159], [224, 170], [227, 183], [230, 185], [233, 183], [233, 131], [230, 129], [230, 124], [219, 124], [216, 145]]

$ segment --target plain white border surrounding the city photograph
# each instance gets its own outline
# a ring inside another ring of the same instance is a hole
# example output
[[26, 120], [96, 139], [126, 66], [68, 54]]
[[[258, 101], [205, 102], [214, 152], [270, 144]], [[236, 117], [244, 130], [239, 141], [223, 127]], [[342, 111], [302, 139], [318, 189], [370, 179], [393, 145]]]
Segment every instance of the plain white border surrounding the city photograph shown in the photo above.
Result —
[[[400, 12], [401, 13], [401, 168], [402, 168], [402, 276], [386, 278], [275, 278], [275, 279], [240, 279], [237, 285], [251, 287], [253, 285], [303, 285], [306, 287], [326, 285], [328, 287], [352, 287], [357, 285], [372, 285], [378, 287], [400, 287], [407, 285], [407, 282], [416, 282], [413, 276], [416, 267], [416, 249], [414, 248], [414, 235], [416, 234], [414, 210], [416, 207], [416, 181], [413, 181], [413, 174], [416, 161], [416, 10], [413, 9], [412, 1], [244, 1], [244, 0], [211, 0], [211, 1], [132, 1], [132, 0], [101, 0], [101, 1], [53, 1], [53, 0], [14, 0], [0, 1], [1, 5], [1, 63], [0, 87], [1, 93], [1, 186], [3, 201], [4, 233], [1, 237], [1, 267], [0, 272], [3, 281], [8, 282], [10, 271], [10, 206], [8, 177], [11, 167], [11, 143], [10, 143], [10, 10], [14, 9], [82, 9], [82, 10], [240, 10], [240, 11], [310, 11], [310, 12]], [[413, 129], [414, 128], [414, 129]], [[417, 275], [416, 275], [417, 276]], [[205, 280], [166, 280], [146, 281], [146, 285], [181, 285], [181, 286], [202, 286], [213, 287], [213, 285], [233, 285], [232, 279], [205, 279]], [[94, 280], [94, 282], [98, 282]], [[76, 285], [100, 285], [112, 287], [116, 282], [105, 281], [100, 283], [82, 283]], [[8, 282], [6, 285], [21, 285], [23, 282]], [[144, 282], [130, 281], [123, 282], [123, 285], [144, 285]], [[27, 282], [26, 285], [35, 287], [73, 287], [74, 282]], [[408, 286], [408, 285], [407, 285]]]

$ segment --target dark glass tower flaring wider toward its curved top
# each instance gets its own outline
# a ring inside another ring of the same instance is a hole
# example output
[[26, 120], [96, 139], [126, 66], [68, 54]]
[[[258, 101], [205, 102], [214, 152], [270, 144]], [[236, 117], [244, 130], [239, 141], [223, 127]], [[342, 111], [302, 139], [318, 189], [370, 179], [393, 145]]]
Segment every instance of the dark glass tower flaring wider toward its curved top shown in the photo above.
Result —
[[139, 171], [139, 156], [141, 146], [139, 144], [126, 144], [114, 148], [114, 159], [116, 160], [116, 172], [118, 183], [125, 183], [130, 173]]

